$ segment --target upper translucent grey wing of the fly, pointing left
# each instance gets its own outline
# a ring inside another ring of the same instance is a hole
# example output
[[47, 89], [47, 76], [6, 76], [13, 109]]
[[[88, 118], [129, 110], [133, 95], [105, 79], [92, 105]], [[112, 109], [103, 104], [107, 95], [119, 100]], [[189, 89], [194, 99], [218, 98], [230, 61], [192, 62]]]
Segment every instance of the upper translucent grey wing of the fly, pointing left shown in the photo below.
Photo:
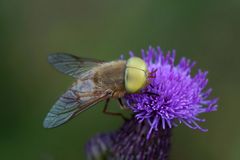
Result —
[[48, 56], [48, 62], [57, 70], [70, 75], [74, 78], [80, 78], [84, 73], [96, 67], [103, 61], [80, 58], [68, 53], [53, 53]]

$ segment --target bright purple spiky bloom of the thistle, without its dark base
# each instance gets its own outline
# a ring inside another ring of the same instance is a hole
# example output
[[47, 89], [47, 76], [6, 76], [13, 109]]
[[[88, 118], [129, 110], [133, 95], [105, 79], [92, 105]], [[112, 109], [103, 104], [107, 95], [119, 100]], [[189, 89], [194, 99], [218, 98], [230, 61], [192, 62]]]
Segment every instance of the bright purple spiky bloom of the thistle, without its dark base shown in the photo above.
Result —
[[[130, 54], [133, 56], [133, 53]], [[140, 123], [146, 121], [150, 125], [148, 136], [159, 128], [172, 128], [184, 123], [192, 129], [201, 128], [197, 122], [200, 113], [212, 112], [217, 109], [217, 99], [208, 99], [212, 89], [205, 89], [208, 83], [207, 72], [198, 70], [191, 75], [195, 62], [182, 58], [174, 64], [175, 51], [165, 56], [160, 48], [142, 50], [142, 58], [148, 70], [157, 70], [150, 84], [137, 94], [124, 97], [127, 106], [134, 112]]]

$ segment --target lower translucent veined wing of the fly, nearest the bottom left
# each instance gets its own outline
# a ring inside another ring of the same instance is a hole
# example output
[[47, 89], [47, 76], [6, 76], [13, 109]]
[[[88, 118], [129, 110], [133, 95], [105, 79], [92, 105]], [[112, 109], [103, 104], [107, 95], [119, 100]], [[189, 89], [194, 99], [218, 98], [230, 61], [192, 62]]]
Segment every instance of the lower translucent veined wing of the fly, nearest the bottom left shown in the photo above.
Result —
[[[79, 85], [76, 84], [57, 100], [43, 122], [44, 128], [64, 124], [82, 111], [108, 98], [109, 94], [106, 91], [86, 91], [85, 89], [89, 90], [91, 88], [89, 85], [92, 85], [90, 80], [88, 81], [84, 83], [85, 88], [82, 91], [77, 90]], [[80, 86], [82, 87], [81, 84]]]

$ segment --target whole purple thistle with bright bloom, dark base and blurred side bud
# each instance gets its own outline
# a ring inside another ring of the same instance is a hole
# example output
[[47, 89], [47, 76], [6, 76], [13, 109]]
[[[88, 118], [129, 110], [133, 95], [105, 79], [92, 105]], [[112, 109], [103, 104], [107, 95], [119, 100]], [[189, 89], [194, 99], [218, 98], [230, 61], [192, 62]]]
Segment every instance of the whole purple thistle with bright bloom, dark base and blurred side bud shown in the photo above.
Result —
[[[134, 54], [130, 52], [130, 55]], [[198, 125], [205, 121], [199, 114], [217, 109], [217, 99], [208, 98], [212, 89], [206, 89], [207, 72], [198, 70], [192, 76], [195, 62], [186, 58], [175, 65], [175, 51], [164, 56], [160, 48], [149, 48], [142, 50], [142, 58], [149, 71], [156, 71], [155, 78], [140, 93], [124, 97], [133, 112], [132, 118], [118, 131], [93, 138], [88, 143], [89, 155], [93, 154], [91, 148], [97, 148], [95, 157], [104, 155], [105, 159], [166, 160], [173, 126], [183, 123], [192, 129], [207, 131]], [[102, 149], [100, 145], [107, 147]]]

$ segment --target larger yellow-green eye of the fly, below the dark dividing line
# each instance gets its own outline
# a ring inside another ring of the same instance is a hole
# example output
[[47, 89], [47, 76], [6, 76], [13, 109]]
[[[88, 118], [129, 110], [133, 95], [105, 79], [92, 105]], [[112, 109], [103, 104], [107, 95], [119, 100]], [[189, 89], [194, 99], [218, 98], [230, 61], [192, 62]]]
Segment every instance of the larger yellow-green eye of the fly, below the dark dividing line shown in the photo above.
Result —
[[129, 93], [135, 93], [142, 89], [147, 82], [146, 73], [137, 68], [126, 68], [125, 88]]

